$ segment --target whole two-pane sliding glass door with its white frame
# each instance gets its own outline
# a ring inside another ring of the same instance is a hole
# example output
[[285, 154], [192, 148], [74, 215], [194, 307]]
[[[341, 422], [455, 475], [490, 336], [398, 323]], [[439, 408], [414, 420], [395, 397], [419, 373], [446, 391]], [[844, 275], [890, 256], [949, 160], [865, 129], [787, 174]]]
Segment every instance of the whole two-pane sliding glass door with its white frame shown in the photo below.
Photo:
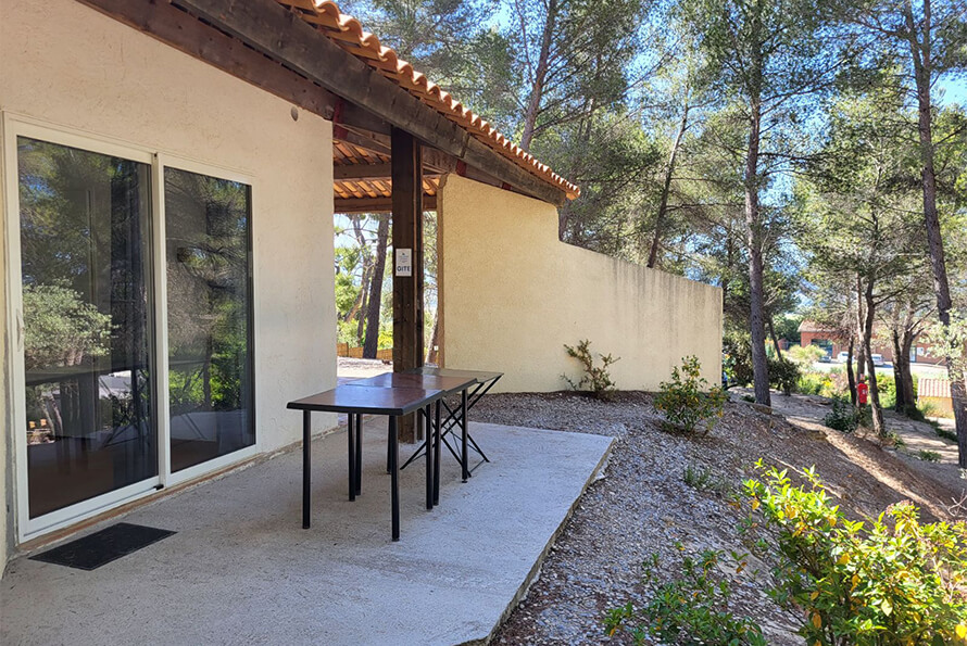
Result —
[[258, 451], [251, 186], [4, 129], [24, 541]]

